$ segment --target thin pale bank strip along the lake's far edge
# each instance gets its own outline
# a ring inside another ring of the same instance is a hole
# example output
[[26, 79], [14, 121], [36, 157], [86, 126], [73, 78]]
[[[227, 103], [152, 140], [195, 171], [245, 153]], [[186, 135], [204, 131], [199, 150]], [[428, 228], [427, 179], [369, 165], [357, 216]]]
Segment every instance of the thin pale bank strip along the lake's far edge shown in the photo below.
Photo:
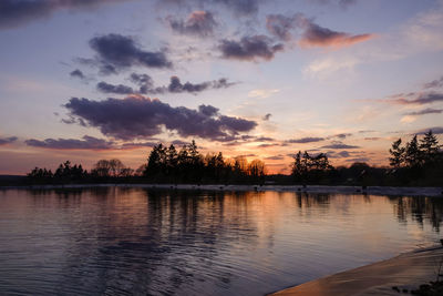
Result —
[[93, 187], [134, 187], [156, 190], [226, 191], [226, 192], [299, 192], [299, 193], [344, 193], [403, 196], [443, 196], [442, 187], [392, 187], [392, 186], [329, 186], [329, 185], [196, 185], [196, 184], [65, 184], [0, 186], [1, 190], [62, 190]]

